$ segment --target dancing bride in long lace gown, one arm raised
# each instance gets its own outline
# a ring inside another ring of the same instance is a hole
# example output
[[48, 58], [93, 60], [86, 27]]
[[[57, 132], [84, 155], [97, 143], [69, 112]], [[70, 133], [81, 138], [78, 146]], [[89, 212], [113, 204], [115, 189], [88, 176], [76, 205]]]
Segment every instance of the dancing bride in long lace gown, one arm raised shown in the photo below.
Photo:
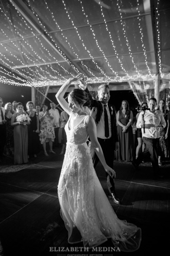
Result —
[[84, 112], [83, 108], [90, 103], [88, 94], [82, 89], [74, 89], [69, 94], [69, 104], [64, 99], [71, 83], [81, 79], [81, 75], [70, 78], [56, 94], [59, 104], [70, 115], [65, 126], [67, 144], [58, 184], [61, 217], [69, 233], [68, 242], [83, 242], [84, 247], [92, 248], [111, 238], [121, 251], [135, 251], [141, 243], [141, 229], [117, 218], [93, 167], [88, 137], [105, 171], [116, 176], [106, 164], [97, 140], [95, 122]]

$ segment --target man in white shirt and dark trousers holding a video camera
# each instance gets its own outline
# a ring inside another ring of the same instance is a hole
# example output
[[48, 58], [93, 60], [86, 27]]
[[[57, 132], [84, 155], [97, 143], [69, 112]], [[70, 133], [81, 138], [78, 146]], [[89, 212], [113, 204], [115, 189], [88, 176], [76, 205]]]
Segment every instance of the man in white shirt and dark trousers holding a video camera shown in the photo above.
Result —
[[142, 128], [142, 140], [145, 143], [145, 149], [132, 164], [135, 169], [137, 169], [142, 160], [145, 157], [150, 156], [155, 174], [159, 177], [163, 177], [158, 165], [157, 143], [160, 137], [160, 131], [165, 128], [166, 122], [162, 112], [155, 109], [156, 106], [157, 100], [155, 98], [150, 98], [148, 103], [149, 110], [142, 111], [139, 114], [137, 128]]

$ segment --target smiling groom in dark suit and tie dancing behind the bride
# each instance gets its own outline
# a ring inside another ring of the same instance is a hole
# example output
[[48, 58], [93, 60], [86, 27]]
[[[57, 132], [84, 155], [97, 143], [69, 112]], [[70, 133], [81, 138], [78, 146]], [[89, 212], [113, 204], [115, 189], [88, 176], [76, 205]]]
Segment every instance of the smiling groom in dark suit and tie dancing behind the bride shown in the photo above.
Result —
[[[84, 80], [81, 80], [85, 84]], [[117, 137], [117, 127], [116, 127], [116, 111], [115, 107], [108, 103], [110, 99], [109, 86], [102, 84], [97, 89], [98, 100], [92, 99], [87, 86], [79, 86], [86, 91], [91, 100], [92, 112], [91, 116], [94, 118], [97, 127], [97, 139], [103, 150], [106, 163], [113, 169], [113, 158], [114, 150], [118, 147], [118, 137]], [[105, 123], [107, 119], [107, 127]], [[105, 129], [107, 128], [107, 129]], [[94, 168], [98, 163], [98, 157], [94, 150], [91, 148], [91, 143], [89, 143], [89, 148], [91, 152], [93, 151], [92, 159]], [[115, 193], [114, 178], [110, 177], [106, 173], [107, 186], [109, 190], [109, 197], [113, 199], [113, 202], [120, 204], [121, 201], [118, 199]]]

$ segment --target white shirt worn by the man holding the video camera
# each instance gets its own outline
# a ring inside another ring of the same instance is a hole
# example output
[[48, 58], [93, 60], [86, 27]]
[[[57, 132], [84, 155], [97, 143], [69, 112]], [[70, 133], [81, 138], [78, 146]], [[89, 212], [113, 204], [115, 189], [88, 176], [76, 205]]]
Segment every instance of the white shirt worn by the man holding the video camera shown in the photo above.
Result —
[[144, 121], [145, 121], [145, 133], [142, 128], [142, 137], [146, 137], [150, 139], [159, 138], [160, 132], [158, 131], [158, 128], [160, 126], [163, 126], [163, 128], [165, 128], [166, 126], [163, 113], [160, 110], [155, 110], [154, 113], [150, 112], [150, 110], [146, 110], [145, 113], [142, 111], [138, 117], [137, 128], [141, 128], [143, 114], [144, 114]]

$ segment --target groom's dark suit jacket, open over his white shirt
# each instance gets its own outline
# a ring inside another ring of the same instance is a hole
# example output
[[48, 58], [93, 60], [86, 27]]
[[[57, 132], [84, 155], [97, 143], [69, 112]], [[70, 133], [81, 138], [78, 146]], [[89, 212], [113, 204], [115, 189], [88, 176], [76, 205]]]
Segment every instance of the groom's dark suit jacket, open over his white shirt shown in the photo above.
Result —
[[[94, 113], [94, 121], [96, 125], [100, 122], [101, 115], [103, 113], [103, 105], [99, 100], [94, 100], [88, 90], [86, 88], [84, 91], [86, 91], [89, 95], [90, 101], [91, 101], [91, 108], [92, 108], [92, 113]], [[109, 107], [109, 112], [110, 112], [110, 117], [111, 117], [111, 131], [112, 131], [112, 136], [111, 139], [113, 141], [113, 147], [115, 149], [115, 142], [118, 141], [118, 135], [117, 135], [117, 126], [116, 126], [116, 109], [113, 105], [108, 103]]]

